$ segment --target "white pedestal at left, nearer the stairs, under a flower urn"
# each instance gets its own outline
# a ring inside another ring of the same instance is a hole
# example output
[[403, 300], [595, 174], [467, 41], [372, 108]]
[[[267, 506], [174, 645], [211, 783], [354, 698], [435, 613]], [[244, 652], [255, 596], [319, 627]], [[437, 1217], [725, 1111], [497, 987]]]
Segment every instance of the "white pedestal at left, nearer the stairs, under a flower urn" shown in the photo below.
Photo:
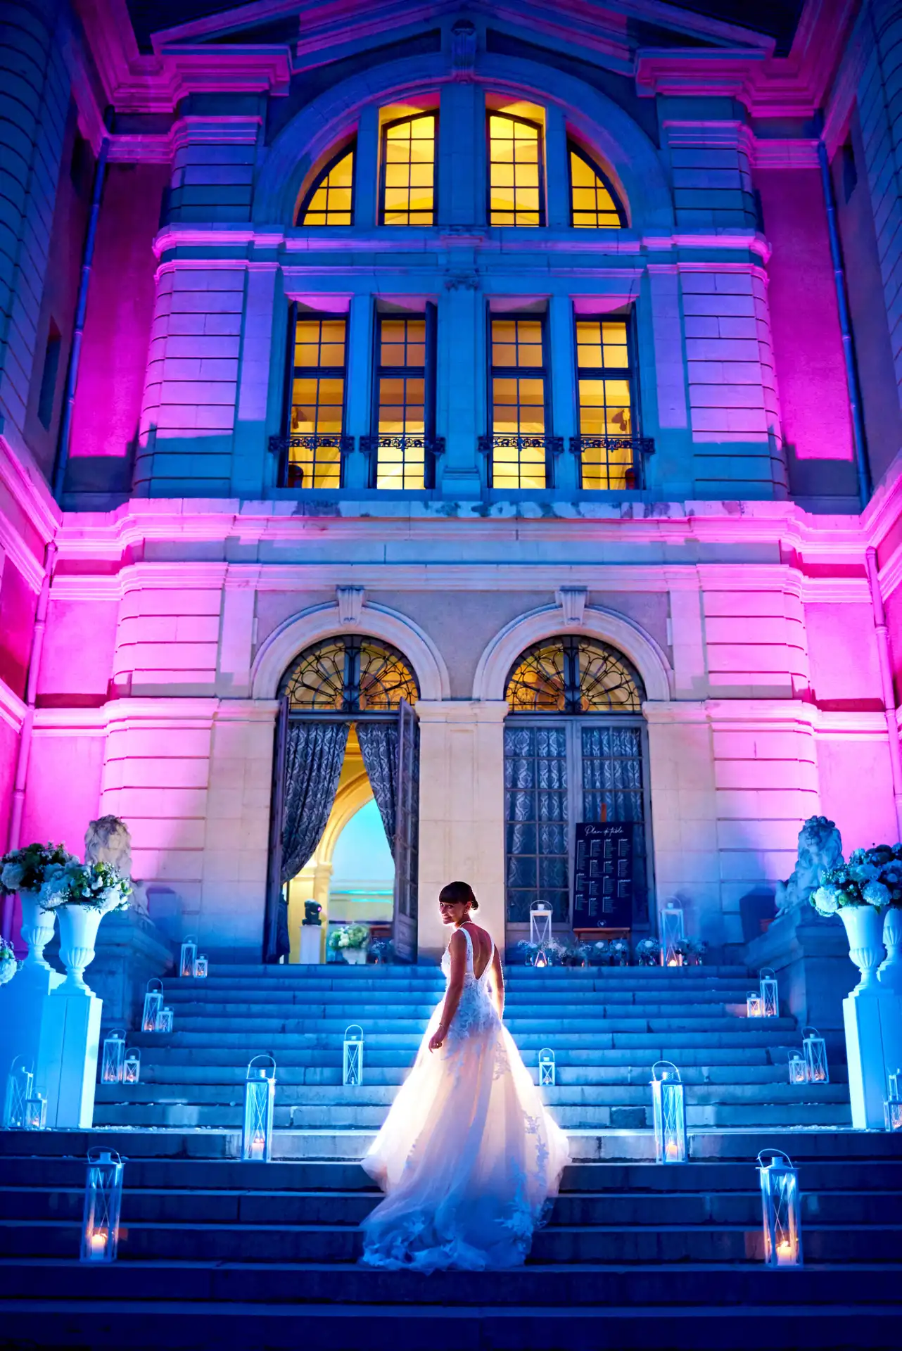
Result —
[[90, 990], [54, 993], [45, 1002], [38, 1084], [47, 1093], [49, 1127], [93, 1125], [103, 1006]]

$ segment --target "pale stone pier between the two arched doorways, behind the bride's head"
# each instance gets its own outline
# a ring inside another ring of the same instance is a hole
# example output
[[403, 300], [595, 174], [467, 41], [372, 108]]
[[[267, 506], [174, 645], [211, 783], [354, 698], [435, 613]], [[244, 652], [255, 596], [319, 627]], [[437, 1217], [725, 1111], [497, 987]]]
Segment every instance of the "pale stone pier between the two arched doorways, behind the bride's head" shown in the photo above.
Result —
[[446, 882], [470, 882], [483, 924], [504, 951], [505, 700], [420, 700], [419, 959], [447, 943], [439, 919]]

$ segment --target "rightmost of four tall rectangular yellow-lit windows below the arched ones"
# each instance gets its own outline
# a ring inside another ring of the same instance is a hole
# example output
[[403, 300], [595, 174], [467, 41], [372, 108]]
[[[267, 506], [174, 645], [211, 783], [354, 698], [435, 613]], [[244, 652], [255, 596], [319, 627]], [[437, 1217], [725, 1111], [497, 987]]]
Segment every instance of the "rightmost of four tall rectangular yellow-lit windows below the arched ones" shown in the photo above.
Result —
[[577, 319], [583, 488], [632, 486], [633, 407], [625, 319]]

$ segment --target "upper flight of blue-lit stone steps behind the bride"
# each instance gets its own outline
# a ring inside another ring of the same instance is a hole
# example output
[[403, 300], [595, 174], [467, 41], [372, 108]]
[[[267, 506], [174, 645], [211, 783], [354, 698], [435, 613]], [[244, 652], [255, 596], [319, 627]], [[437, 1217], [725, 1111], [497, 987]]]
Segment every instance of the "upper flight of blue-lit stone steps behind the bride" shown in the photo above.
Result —
[[[794, 1019], [747, 1019], [756, 977], [741, 967], [509, 967], [505, 1021], [527, 1065], [550, 1046], [544, 1090], [568, 1131], [651, 1127], [652, 1063], [686, 1084], [689, 1127], [848, 1125], [841, 1048], [830, 1084], [791, 1086]], [[111, 1127], [236, 1128], [253, 1055], [277, 1062], [275, 1128], [378, 1128], [409, 1069], [444, 982], [435, 967], [230, 966], [170, 979], [171, 1034], [134, 1034], [140, 1082], [99, 1085], [95, 1121]], [[365, 1032], [363, 1084], [342, 1088], [346, 1027]], [[348, 1142], [352, 1152], [363, 1138]]]

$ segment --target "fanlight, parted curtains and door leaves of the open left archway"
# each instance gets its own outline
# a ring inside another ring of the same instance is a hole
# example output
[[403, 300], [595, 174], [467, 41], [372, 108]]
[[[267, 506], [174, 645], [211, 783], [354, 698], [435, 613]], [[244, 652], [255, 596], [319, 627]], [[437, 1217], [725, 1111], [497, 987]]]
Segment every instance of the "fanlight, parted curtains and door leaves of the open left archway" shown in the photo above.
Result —
[[416, 958], [419, 686], [377, 638], [339, 634], [294, 659], [280, 685], [265, 955], [290, 951], [286, 886], [313, 858], [352, 738], [394, 858], [394, 950]]

